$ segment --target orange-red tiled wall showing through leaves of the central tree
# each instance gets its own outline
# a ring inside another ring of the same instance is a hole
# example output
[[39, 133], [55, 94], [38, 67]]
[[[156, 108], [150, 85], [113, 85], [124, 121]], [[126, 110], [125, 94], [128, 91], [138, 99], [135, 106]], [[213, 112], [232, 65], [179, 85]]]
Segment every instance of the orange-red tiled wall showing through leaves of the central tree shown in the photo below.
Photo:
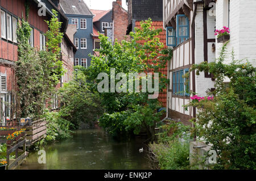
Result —
[[[141, 27], [140, 23], [141, 22], [136, 22], [135, 27], [140, 28]], [[159, 28], [163, 29], [163, 22], [158, 22], [158, 21], [157, 22], [152, 22], [152, 27], [155, 27], [155, 29], [159, 29]], [[167, 46], [166, 46], [166, 31], [163, 30], [162, 32], [160, 32], [158, 37], [159, 37], [161, 43], [164, 44], [164, 48], [167, 48]], [[158, 56], [160, 56], [160, 55], [161, 54], [158, 54]], [[164, 69], [160, 69], [160, 72], [167, 76], [167, 64], [166, 64], [166, 67]], [[163, 103], [164, 107], [166, 107], [166, 101], [167, 101], [167, 92], [166, 92], [166, 90], [159, 93], [158, 100]]]

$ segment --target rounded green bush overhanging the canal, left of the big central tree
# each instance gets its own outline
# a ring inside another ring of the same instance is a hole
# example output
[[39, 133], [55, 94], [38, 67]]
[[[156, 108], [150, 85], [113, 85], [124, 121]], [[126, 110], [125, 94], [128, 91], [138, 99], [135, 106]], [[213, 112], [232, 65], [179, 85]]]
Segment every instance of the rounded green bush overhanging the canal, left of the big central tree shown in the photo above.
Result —
[[78, 128], [80, 123], [96, 121], [104, 111], [98, 93], [89, 90], [85, 74], [80, 69], [75, 71], [72, 81], [57, 91], [57, 95], [63, 104], [60, 117], [71, 121], [74, 128]]

